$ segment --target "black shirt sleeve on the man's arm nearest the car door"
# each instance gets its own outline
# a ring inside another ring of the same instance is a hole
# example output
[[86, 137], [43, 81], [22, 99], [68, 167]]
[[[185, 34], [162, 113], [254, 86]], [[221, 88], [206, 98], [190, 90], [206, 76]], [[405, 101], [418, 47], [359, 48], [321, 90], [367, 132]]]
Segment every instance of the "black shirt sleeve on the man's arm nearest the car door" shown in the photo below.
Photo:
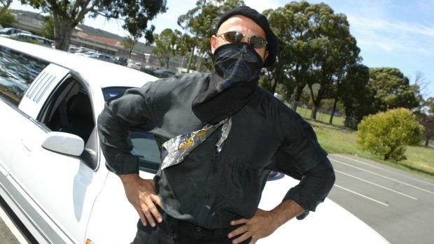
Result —
[[130, 131], [150, 131], [151, 96], [148, 82], [144, 87], [127, 89], [107, 101], [98, 117], [98, 134], [106, 167], [118, 175], [139, 173], [139, 158], [132, 155]]

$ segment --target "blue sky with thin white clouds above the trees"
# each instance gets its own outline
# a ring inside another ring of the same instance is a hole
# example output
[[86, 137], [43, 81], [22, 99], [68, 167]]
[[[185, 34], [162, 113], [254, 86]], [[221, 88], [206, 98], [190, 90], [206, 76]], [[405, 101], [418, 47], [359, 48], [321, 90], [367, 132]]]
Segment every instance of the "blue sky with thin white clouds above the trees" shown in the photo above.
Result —
[[[262, 12], [279, 8], [289, 0], [244, 0], [247, 6]], [[356, 38], [363, 64], [370, 68], [400, 69], [414, 84], [421, 74], [424, 98], [434, 97], [434, 0], [309, 0], [326, 3], [335, 13], [346, 15], [350, 33]], [[155, 33], [163, 29], [178, 29], [179, 15], [196, 6], [196, 0], [167, 0], [168, 10], [158, 15], [151, 24]], [[13, 1], [13, 9], [33, 10]], [[36, 10], [33, 10], [36, 11]], [[121, 23], [116, 20], [85, 19], [85, 24], [104, 31], [125, 36]]]

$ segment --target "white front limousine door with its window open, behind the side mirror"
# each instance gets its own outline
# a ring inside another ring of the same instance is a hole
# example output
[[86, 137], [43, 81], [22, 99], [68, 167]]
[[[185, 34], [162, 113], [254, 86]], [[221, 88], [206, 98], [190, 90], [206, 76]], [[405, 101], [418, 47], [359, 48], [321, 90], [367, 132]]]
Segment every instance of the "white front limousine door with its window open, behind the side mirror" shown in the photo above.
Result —
[[[92, 203], [104, 178], [94, 179], [97, 164], [47, 150], [41, 145], [52, 131], [63, 130], [62, 123], [54, 121], [55, 113], [62, 110], [62, 101], [85, 93], [94, 119], [92, 100], [86, 86], [68, 69], [50, 64], [39, 77], [20, 104], [31, 118], [23, 122], [17, 132], [10, 175], [20, 186], [18, 195], [28, 201], [25, 207], [29, 216], [34, 218], [48, 243], [84, 243]], [[46, 85], [49, 82], [52, 85]], [[89, 137], [96, 138], [96, 134]]]

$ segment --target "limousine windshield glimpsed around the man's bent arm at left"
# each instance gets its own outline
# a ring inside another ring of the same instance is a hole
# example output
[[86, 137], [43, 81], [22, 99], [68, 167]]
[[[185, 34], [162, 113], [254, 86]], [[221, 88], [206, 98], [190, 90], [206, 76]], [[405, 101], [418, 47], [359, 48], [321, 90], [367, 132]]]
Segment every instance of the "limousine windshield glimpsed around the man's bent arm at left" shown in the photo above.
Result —
[[[109, 101], [131, 87], [106, 87], [102, 90], [104, 100]], [[140, 169], [156, 173], [160, 166], [160, 150], [152, 134], [146, 132], [130, 132], [133, 145], [132, 155], [139, 157]]]

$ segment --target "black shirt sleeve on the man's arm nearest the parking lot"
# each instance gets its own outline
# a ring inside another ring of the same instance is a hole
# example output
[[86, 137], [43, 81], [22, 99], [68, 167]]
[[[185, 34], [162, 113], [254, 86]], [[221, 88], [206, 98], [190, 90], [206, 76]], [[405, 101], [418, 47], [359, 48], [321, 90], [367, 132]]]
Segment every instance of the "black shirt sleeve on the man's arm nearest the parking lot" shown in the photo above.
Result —
[[283, 145], [272, 161], [276, 171], [300, 180], [283, 199], [293, 199], [304, 208], [300, 220], [324, 201], [335, 183], [335, 172], [310, 124], [292, 113], [283, 126]]

